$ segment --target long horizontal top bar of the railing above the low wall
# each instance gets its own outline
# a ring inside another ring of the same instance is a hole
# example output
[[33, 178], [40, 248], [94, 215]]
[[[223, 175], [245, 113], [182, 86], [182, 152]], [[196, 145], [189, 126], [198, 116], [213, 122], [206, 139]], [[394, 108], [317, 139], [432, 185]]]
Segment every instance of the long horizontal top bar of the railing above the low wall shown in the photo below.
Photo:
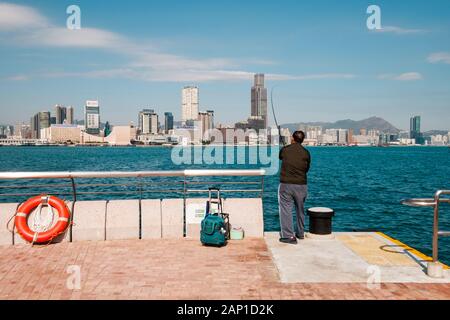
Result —
[[84, 179], [84, 178], [143, 178], [143, 177], [233, 177], [264, 176], [257, 170], [178, 170], [178, 171], [79, 171], [79, 172], [0, 172], [0, 180], [16, 179]]

